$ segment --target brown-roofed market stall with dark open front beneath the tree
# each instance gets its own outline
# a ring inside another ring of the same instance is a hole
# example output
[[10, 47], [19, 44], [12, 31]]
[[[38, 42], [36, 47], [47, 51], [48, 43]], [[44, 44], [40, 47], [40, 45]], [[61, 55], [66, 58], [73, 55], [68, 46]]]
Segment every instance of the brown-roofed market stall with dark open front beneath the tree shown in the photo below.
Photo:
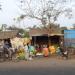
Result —
[[59, 26], [52, 26], [48, 28], [31, 28], [29, 35], [32, 38], [32, 43], [35, 44], [57, 44], [61, 45], [63, 42], [63, 34]]

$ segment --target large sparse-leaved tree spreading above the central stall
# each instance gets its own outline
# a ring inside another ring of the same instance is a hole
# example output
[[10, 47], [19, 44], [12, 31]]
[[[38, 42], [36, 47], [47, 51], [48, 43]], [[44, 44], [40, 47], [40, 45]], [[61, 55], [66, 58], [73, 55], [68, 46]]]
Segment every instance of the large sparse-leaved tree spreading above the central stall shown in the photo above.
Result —
[[51, 26], [62, 14], [69, 18], [72, 15], [71, 8], [67, 7], [68, 0], [19, 0], [19, 3], [19, 8], [24, 11], [20, 19], [35, 18], [40, 20], [44, 27]]

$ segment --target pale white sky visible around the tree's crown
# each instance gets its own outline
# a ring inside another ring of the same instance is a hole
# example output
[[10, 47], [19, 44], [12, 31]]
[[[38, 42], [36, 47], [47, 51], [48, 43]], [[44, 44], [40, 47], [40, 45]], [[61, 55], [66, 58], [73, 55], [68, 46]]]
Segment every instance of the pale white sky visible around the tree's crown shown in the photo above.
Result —
[[[20, 14], [22, 14], [22, 11], [19, 9], [19, 7], [16, 5], [17, 0], [0, 0], [0, 3], [2, 4], [2, 10], [0, 11], [0, 25], [1, 24], [7, 24], [8, 26], [11, 26], [13, 24], [16, 24], [16, 22], [13, 20], [14, 18], [17, 18]], [[64, 16], [59, 17], [58, 23], [61, 26], [67, 26], [71, 27], [72, 24], [75, 24], [75, 0], [72, 1], [72, 13], [73, 18], [68, 19]], [[23, 22], [24, 21], [24, 22]], [[23, 20], [21, 24], [16, 24], [17, 27], [32, 27], [33, 25], [39, 24], [39, 21], [26, 18]]]

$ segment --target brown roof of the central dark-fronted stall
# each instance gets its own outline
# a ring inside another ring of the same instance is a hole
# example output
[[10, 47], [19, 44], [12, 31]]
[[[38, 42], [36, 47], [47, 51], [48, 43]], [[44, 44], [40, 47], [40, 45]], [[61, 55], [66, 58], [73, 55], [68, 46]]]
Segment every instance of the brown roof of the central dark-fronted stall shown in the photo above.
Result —
[[50, 31], [48, 30], [48, 29], [46, 29], [46, 28], [43, 28], [43, 29], [40, 29], [40, 28], [32, 28], [32, 29], [30, 29], [30, 31], [29, 31], [29, 35], [30, 36], [43, 36], [43, 35], [47, 35], [47, 36], [54, 36], [54, 35], [59, 35], [59, 36], [61, 36], [61, 35], [63, 35], [62, 33], [61, 33], [61, 30], [60, 29], [58, 29], [58, 28], [52, 28]]

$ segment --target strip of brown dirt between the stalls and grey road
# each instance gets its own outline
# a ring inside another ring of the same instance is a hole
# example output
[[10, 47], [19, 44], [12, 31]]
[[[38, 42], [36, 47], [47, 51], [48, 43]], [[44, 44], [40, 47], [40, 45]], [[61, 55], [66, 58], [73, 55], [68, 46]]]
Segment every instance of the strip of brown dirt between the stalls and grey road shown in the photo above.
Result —
[[65, 68], [75, 67], [75, 59], [62, 60], [56, 58], [40, 58], [33, 59], [31, 61], [19, 61], [19, 62], [3, 62], [0, 63], [0, 69], [10, 68]]

